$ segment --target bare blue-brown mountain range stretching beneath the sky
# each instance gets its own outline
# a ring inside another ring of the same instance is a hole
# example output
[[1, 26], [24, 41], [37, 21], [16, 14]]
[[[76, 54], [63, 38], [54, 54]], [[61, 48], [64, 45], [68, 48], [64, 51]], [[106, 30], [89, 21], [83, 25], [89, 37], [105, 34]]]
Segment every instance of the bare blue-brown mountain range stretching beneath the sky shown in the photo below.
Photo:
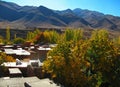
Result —
[[52, 10], [44, 6], [19, 6], [0, 1], [0, 28], [89, 28], [120, 30], [120, 17], [83, 10]]

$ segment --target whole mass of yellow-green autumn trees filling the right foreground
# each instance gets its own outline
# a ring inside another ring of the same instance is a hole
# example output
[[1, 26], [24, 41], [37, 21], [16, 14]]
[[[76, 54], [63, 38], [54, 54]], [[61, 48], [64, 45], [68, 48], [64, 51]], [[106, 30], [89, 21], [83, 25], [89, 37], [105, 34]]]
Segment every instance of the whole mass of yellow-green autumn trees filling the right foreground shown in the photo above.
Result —
[[66, 41], [48, 53], [44, 69], [65, 87], [120, 86], [120, 49], [108, 32], [93, 31], [89, 39], [76, 43], [76, 34], [66, 32]]

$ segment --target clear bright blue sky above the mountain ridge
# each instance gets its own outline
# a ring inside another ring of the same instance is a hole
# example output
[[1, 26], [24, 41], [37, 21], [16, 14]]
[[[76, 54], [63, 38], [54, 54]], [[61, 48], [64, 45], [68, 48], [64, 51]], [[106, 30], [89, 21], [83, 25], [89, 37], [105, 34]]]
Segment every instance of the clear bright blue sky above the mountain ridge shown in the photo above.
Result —
[[99, 11], [104, 14], [120, 16], [120, 0], [3, 0], [14, 2], [21, 6], [40, 6], [43, 5], [54, 10], [65, 9], [89, 9]]

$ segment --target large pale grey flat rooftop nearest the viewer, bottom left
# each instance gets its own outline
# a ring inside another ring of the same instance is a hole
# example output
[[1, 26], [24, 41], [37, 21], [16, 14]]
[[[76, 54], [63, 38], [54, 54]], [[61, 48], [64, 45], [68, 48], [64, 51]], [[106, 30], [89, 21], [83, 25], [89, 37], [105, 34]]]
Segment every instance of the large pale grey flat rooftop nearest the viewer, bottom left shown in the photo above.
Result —
[[37, 77], [0, 78], [0, 87], [25, 87], [25, 83], [30, 87], [61, 87], [49, 79], [38, 79]]

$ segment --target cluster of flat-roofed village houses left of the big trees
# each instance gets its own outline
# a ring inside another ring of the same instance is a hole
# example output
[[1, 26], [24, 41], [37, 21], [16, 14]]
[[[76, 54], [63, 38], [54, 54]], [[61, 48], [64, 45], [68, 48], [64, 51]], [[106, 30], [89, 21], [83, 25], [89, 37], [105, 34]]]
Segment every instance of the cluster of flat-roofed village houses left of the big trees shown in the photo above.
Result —
[[[57, 44], [47, 45], [0, 45], [0, 52], [15, 58], [15, 62], [4, 62], [6, 72], [0, 71], [0, 87], [60, 87], [42, 72], [43, 61], [48, 51]], [[2, 69], [0, 69], [2, 70]]]

